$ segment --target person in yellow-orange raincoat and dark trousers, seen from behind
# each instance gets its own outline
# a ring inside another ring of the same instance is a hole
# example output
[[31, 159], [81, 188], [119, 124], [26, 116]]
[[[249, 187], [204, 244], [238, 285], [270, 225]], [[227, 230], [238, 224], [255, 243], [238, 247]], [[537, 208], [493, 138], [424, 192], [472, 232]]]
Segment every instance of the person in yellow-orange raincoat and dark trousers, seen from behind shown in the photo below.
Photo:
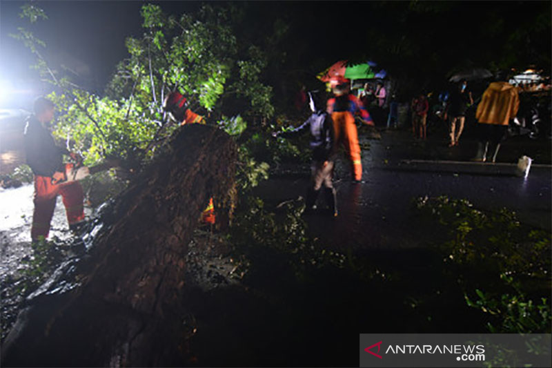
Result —
[[480, 141], [474, 161], [485, 162], [487, 153], [491, 153], [493, 163], [496, 161], [500, 142], [506, 135], [510, 119], [515, 117], [519, 107], [517, 88], [506, 81], [495, 81], [489, 85], [475, 112]]

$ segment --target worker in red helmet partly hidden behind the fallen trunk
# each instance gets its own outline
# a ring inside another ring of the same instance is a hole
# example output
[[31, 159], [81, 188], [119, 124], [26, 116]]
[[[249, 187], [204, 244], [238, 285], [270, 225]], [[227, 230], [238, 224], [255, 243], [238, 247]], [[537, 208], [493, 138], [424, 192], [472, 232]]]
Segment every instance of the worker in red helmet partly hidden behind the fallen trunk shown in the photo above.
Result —
[[[204, 117], [190, 110], [186, 97], [178, 91], [172, 92], [166, 97], [163, 108], [181, 126], [186, 124], [205, 124]], [[215, 206], [212, 197], [209, 199], [207, 208], [201, 213], [201, 222], [204, 222], [204, 224], [215, 224]]]

